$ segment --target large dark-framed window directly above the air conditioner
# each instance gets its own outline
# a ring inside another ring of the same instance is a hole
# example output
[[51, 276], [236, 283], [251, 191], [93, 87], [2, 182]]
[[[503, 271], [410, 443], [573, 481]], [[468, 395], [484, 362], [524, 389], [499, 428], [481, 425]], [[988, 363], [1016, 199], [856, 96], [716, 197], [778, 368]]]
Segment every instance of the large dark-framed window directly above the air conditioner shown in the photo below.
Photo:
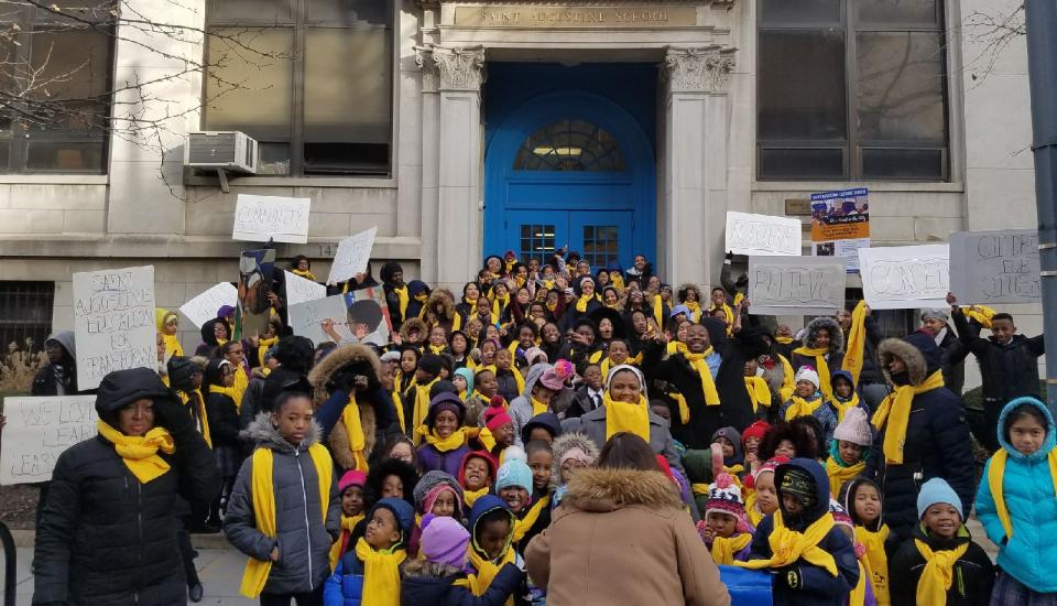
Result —
[[391, 0], [209, 0], [203, 128], [260, 143], [263, 175], [388, 175]]

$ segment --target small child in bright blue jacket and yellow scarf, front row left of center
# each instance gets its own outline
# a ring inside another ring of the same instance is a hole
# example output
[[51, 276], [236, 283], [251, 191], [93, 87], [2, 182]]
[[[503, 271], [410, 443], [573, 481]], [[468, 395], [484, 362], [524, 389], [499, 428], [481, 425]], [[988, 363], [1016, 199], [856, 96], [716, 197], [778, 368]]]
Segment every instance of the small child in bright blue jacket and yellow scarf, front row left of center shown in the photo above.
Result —
[[415, 511], [407, 501], [390, 497], [371, 508], [368, 520], [363, 537], [324, 584], [324, 603], [400, 606], [400, 564], [407, 558], [404, 545]]

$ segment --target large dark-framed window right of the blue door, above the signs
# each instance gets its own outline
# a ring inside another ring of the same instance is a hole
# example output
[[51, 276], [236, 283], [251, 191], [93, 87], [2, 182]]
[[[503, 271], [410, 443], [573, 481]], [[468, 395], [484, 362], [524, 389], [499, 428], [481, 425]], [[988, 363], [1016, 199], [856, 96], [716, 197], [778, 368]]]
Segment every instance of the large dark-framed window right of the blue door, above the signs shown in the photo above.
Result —
[[947, 181], [941, 0], [761, 0], [761, 181]]

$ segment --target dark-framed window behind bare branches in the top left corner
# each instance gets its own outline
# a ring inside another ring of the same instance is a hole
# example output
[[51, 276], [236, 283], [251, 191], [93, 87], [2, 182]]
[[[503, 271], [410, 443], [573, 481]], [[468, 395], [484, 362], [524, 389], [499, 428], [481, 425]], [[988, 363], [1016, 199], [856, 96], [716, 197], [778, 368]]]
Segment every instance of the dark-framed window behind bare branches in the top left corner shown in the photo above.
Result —
[[116, 0], [0, 3], [0, 173], [106, 174]]

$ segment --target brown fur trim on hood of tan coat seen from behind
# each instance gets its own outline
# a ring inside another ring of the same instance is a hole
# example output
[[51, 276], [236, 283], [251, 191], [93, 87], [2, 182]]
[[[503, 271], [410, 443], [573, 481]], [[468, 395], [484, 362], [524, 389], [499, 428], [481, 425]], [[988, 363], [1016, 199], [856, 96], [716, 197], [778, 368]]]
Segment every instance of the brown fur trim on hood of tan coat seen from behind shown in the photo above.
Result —
[[609, 512], [643, 505], [651, 509], [683, 507], [672, 483], [661, 472], [639, 469], [589, 468], [578, 472], [569, 481], [562, 505], [584, 511]]

